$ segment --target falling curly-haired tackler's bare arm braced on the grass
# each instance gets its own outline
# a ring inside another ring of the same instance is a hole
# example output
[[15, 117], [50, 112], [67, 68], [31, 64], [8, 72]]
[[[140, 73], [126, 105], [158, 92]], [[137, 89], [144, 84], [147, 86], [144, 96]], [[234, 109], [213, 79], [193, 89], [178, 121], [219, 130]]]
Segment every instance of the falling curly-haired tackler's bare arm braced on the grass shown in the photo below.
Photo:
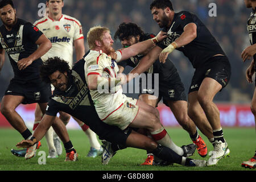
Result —
[[36, 130], [32, 136], [35, 138], [33, 140], [22, 140], [21, 142], [16, 144], [16, 147], [28, 148], [33, 146], [36, 142], [40, 141], [46, 134], [46, 131], [48, 131], [49, 127], [52, 126], [54, 119], [55, 116], [44, 114], [42, 121], [39, 123], [38, 127], [36, 127]]

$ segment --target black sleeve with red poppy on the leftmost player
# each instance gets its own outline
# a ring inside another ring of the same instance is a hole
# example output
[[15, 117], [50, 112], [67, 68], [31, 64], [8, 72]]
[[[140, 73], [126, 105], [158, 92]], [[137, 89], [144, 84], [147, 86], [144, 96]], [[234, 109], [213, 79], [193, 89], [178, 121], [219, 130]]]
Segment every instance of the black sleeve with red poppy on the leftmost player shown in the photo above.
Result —
[[43, 32], [41, 32], [38, 27], [32, 25], [31, 23], [26, 23], [24, 25], [23, 34], [25, 34], [28, 39], [35, 43], [39, 37], [43, 35]]

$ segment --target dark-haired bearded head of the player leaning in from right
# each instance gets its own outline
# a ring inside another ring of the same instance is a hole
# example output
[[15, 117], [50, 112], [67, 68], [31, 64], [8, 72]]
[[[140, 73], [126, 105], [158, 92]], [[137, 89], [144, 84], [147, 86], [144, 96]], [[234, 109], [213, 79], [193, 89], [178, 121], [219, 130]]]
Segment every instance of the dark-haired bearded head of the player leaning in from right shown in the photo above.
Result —
[[171, 25], [174, 19], [174, 8], [170, 0], [154, 0], [150, 5], [150, 10], [160, 28]]

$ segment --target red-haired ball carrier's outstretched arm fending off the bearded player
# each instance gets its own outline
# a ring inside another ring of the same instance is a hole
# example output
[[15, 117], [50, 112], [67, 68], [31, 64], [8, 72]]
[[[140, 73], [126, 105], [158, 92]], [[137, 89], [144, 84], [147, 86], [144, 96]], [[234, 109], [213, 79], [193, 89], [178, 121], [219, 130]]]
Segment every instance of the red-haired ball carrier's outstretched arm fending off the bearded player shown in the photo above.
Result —
[[167, 38], [166, 32], [160, 31], [155, 38], [147, 39], [147, 40], [144, 40], [143, 42], [133, 44], [133, 46], [127, 47], [122, 50], [122, 55], [117, 56], [118, 57], [117, 62], [126, 60], [130, 57], [133, 57], [144, 51], [147, 51], [147, 49], [152, 48], [153, 46], [155, 46], [156, 43], [162, 41], [165, 38]]

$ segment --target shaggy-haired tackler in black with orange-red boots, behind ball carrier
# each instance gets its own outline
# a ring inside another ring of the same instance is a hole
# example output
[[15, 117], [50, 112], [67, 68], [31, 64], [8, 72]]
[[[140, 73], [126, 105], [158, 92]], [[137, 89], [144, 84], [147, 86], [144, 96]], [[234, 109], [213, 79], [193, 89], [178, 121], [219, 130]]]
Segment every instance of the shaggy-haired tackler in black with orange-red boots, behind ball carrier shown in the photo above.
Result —
[[[138, 27], [135, 23], [121, 23], [118, 26], [117, 31], [115, 32], [114, 39], [119, 39], [122, 46], [129, 47], [135, 43], [141, 42], [143, 40], [154, 38], [154, 34], [146, 34], [141, 30], [141, 27]], [[144, 55], [147, 52], [144, 53]], [[136, 55], [130, 59], [119, 61], [118, 68], [119, 72], [122, 73], [127, 65], [135, 68], [139, 61], [144, 55]], [[187, 97], [184, 93], [184, 85], [181, 82], [179, 73], [175, 68], [171, 60], [167, 60], [165, 64], [156, 60], [155, 63], [151, 66], [148, 71], [145, 72], [146, 80], [140, 79], [139, 82], [139, 100], [146, 102], [148, 105], [157, 107], [159, 101], [163, 98], [163, 103], [166, 104], [175, 115], [175, 118], [180, 123], [180, 125], [188, 131], [191, 139], [197, 145], [197, 150], [199, 154], [203, 157], [207, 155], [207, 146], [204, 140], [197, 133], [196, 125], [188, 117], [187, 110]], [[152, 85], [143, 85], [144, 82], [147, 82], [148, 74], [152, 75]], [[159, 81], [154, 80], [154, 75], [159, 75]], [[154, 82], [159, 82], [159, 88], [154, 88]], [[148, 88], [158, 89], [159, 96], [154, 96], [154, 93], [144, 92]], [[159, 164], [158, 160], [154, 160], [154, 155], [147, 153], [147, 159], [142, 165], [156, 165]], [[160, 163], [161, 164], [161, 163]]]

